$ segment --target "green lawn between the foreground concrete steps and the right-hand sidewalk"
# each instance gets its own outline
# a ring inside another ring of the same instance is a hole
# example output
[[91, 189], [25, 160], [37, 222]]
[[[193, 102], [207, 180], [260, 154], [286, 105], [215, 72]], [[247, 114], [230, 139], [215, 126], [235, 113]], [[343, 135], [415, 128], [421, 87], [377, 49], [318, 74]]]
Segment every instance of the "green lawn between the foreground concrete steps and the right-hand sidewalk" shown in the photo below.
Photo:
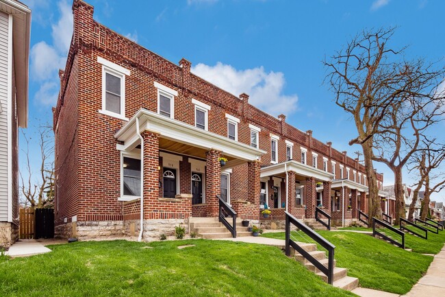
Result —
[[[407, 252], [366, 234], [329, 231], [318, 233], [337, 247], [337, 265], [348, 268], [349, 276], [359, 278], [361, 287], [405, 294], [427, 272], [433, 261], [433, 257]], [[263, 236], [284, 239], [285, 235], [266, 233]], [[311, 241], [296, 232], [292, 233], [292, 237], [297, 241]]]

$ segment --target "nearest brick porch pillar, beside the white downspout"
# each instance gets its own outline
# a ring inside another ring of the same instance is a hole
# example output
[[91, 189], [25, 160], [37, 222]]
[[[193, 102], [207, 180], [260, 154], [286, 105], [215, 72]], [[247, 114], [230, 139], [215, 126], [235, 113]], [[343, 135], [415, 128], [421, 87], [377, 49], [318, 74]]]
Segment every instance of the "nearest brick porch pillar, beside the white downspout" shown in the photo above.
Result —
[[159, 199], [159, 134], [141, 133], [144, 139], [144, 218]]

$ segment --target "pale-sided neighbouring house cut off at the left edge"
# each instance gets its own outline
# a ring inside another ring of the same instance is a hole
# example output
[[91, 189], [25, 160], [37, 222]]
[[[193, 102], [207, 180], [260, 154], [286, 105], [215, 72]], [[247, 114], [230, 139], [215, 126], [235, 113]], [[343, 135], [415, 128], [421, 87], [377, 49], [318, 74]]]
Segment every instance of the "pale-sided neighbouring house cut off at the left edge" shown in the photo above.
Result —
[[31, 10], [0, 0], [0, 247], [18, 238], [18, 127], [28, 121]]

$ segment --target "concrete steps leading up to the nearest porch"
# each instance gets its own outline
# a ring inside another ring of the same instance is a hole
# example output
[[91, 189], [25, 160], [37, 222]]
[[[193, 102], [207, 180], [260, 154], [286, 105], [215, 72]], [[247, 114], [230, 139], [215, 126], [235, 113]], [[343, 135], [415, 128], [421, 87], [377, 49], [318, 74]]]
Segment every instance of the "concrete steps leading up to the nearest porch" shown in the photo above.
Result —
[[[190, 232], [196, 232], [198, 237], [203, 239], [218, 239], [230, 238], [231, 233], [227, 228], [218, 221], [218, 217], [191, 217]], [[244, 237], [251, 236], [252, 233], [248, 231], [247, 227], [243, 227], [241, 222], [236, 223], [236, 236]]]

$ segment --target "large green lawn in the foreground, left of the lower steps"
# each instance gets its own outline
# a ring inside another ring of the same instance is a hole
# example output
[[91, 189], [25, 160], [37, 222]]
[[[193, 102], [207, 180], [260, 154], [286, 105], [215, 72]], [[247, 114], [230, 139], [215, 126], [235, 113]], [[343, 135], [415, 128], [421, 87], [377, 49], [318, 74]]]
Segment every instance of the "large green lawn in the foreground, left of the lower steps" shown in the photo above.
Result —
[[[186, 244], [195, 246], [177, 248]], [[354, 296], [272, 246], [196, 239], [50, 248], [0, 259], [0, 296]]]

